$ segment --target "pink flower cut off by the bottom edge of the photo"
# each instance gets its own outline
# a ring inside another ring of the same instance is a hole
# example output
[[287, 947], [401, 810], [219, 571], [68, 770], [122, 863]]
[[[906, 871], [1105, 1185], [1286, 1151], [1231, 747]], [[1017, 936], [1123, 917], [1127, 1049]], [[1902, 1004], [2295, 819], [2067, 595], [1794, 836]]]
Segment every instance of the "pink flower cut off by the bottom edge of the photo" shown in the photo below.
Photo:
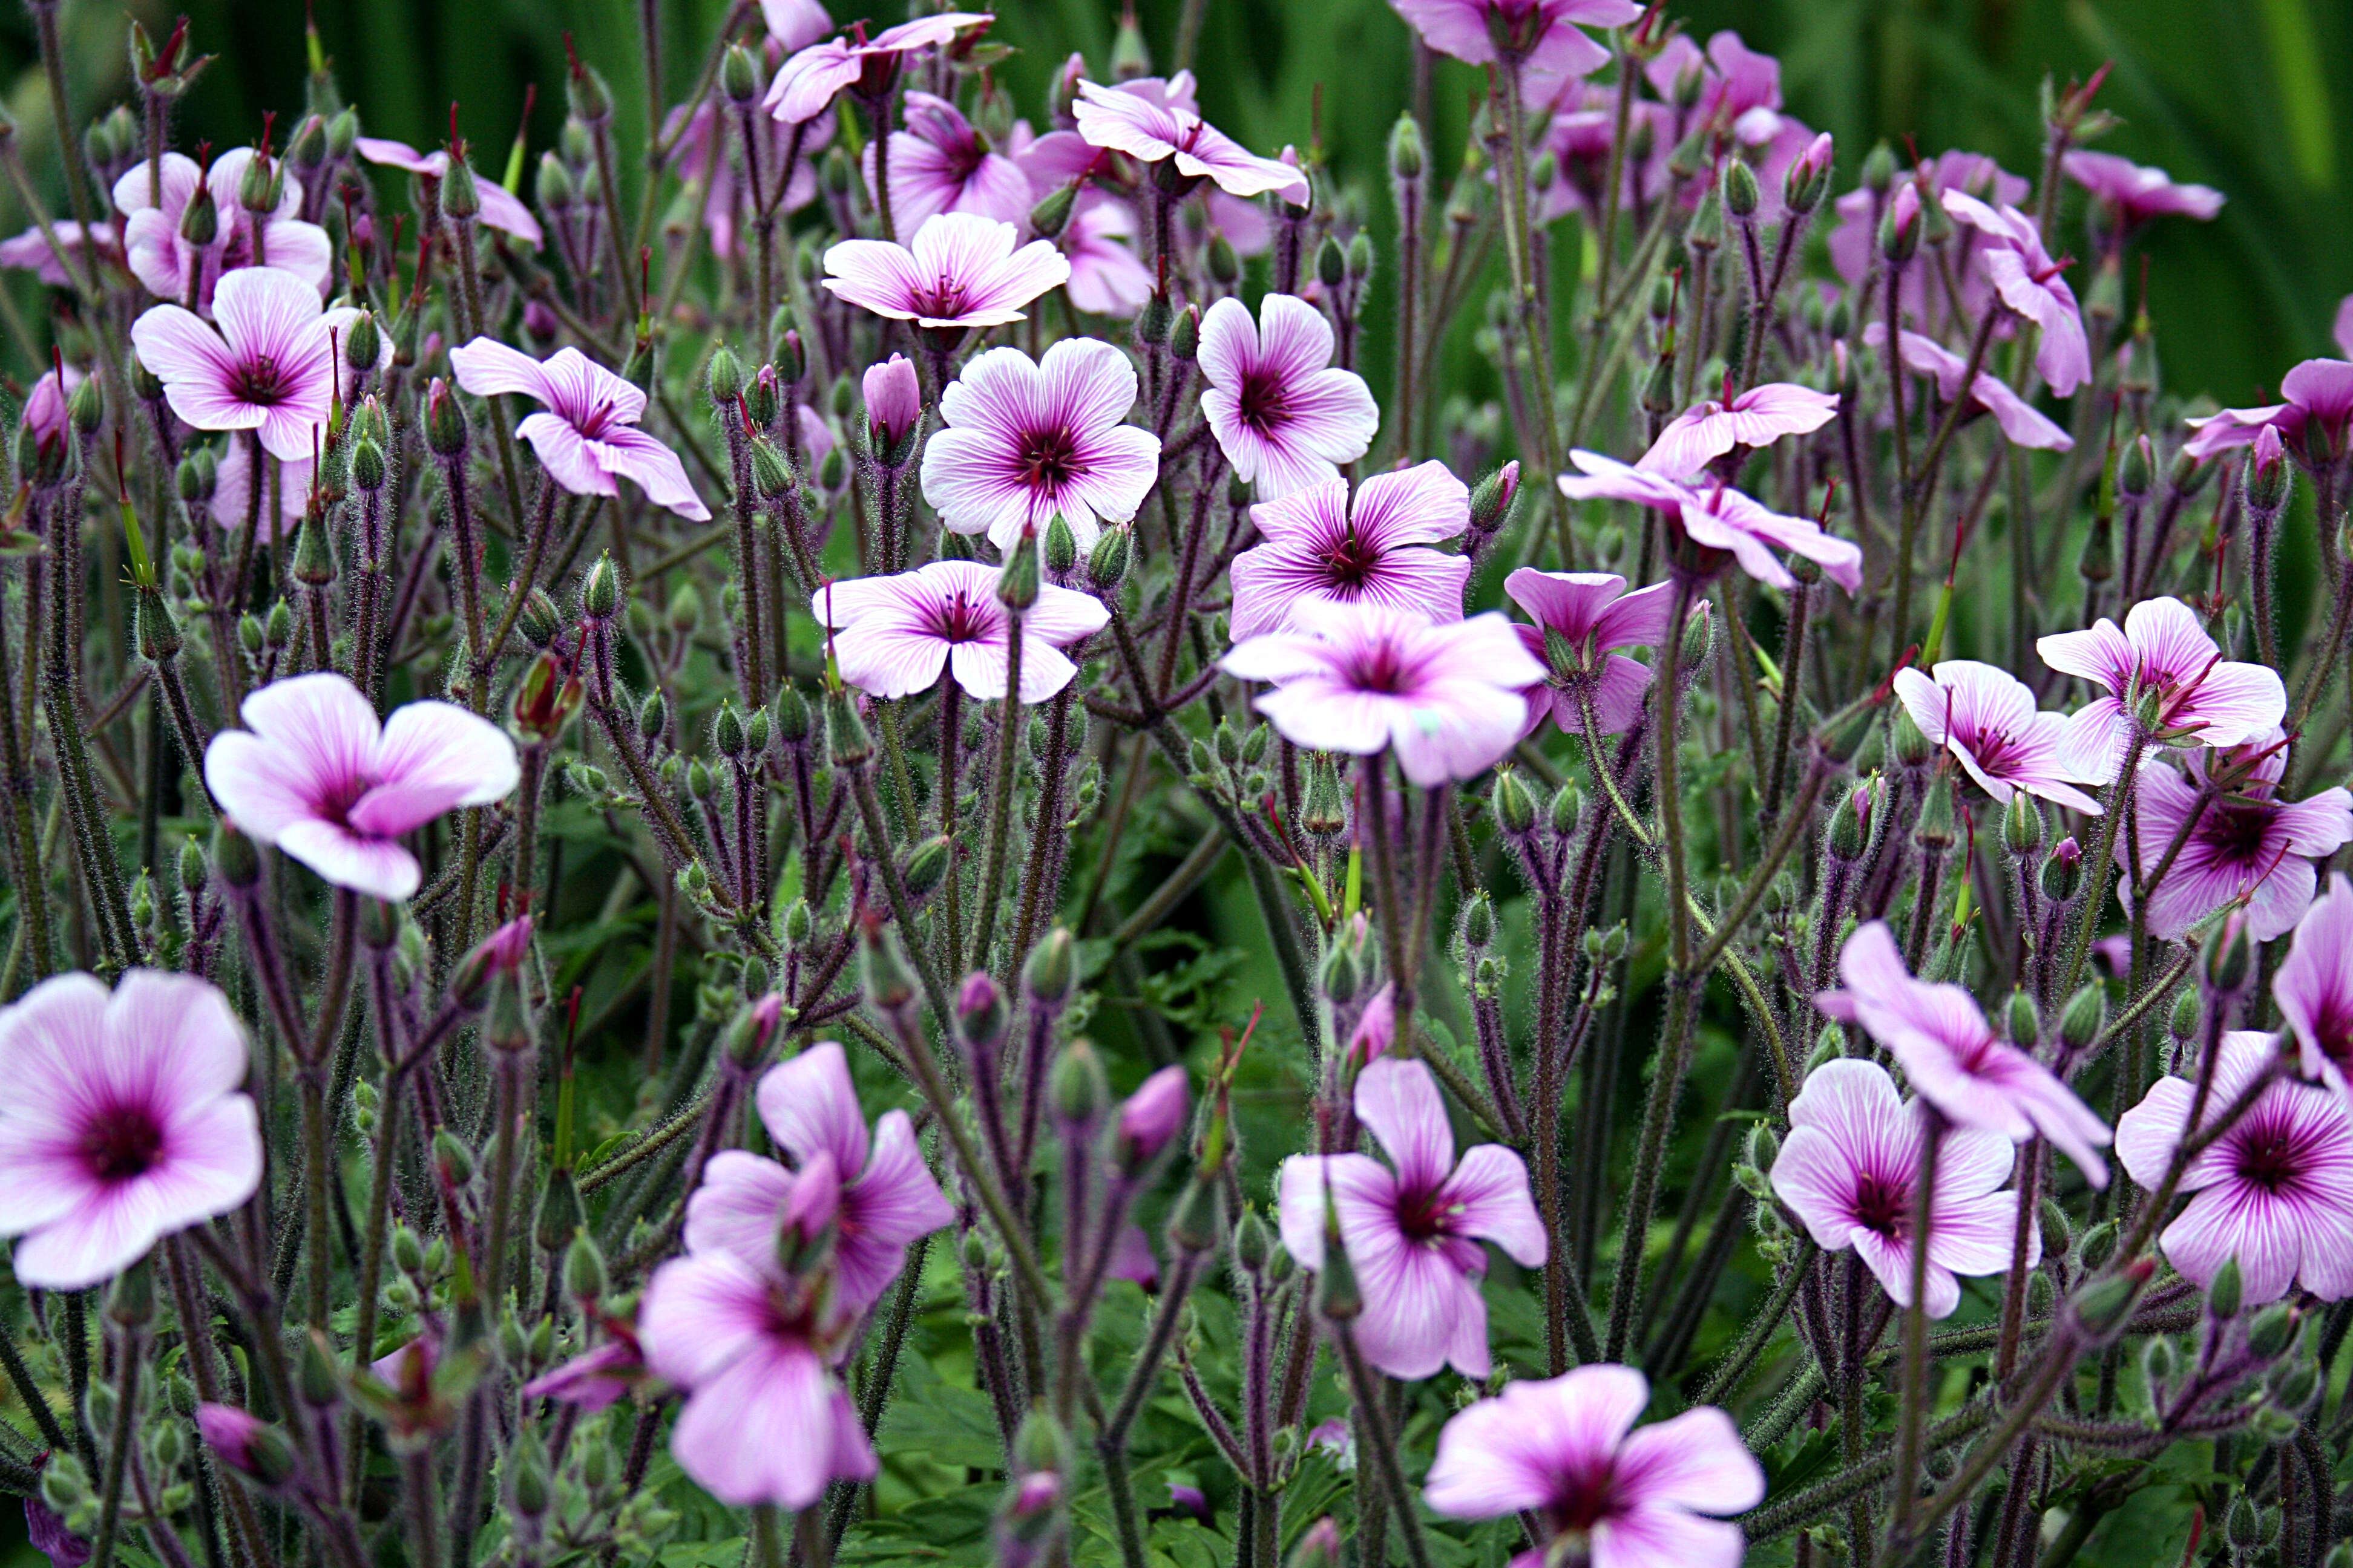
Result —
[[1647, 1403], [1631, 1366], [1506, 1382], [1438, 1434], [1421, 1500], [1447, 1519], [1534, 1514], [1569, 1544], [1565, 1556], [1532, 1547], [1511, 1568], [1734, 1568], [1741, 1528], [1722, 1514], [1765, 1502], [1765, 1467], [1715, 1406], [1635, 1429]]

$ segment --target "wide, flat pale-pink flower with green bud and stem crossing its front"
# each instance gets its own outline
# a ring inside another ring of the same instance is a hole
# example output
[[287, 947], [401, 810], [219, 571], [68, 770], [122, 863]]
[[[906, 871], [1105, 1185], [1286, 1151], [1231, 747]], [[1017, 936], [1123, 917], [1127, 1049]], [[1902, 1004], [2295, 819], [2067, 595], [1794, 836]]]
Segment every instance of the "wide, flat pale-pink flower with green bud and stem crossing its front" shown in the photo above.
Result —
[[[984, 562], [929, 562], [896, 576], [828, 583], [809, 599], [819, 625], [833, 628], [842, 679], [866, 696], [915, 696], [948, 670], [984, 703], [1005, 696], [1007, 614], [998, 569]], [[1021, 701], [1042, 703], [1078, 675], [1061, 651], [1111, 623], [1094, 595], [1038, 585], [1021, 611]]]

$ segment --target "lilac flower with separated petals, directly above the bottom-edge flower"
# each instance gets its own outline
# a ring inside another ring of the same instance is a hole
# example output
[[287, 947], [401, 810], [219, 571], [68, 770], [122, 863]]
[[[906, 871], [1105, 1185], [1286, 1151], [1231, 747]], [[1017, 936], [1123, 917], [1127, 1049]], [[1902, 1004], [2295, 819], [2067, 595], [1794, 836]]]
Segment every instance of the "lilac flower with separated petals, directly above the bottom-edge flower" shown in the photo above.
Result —
[[1355, 1079], [1355, 1114], [1388, 1154], [1292, 1154], [1278, 1175], [1282, 1246], [1322, 1269], [1325, 1199], [1365, 1293], [1355, 1321], [1365, 1359], [1391, 1378], [1428, 1378], [1449, 1361], [1487, 1375], [1487, 1272], [1480, 1241], [1525, 1267], [1544, 1262], [1544, 1222], [1527, 1166], [1497, 1143], [1454, 1159], [1454, 1131], [1426, 1063], [1381, 1058]]

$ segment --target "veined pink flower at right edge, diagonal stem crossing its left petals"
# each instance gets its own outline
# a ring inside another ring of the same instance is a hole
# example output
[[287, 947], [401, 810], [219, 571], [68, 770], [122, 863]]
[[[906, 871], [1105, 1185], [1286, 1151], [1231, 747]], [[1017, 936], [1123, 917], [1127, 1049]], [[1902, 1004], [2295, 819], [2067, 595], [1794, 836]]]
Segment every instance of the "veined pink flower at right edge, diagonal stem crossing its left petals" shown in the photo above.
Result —
[[[2221, 1037], [2207, 1126], [2238, 1103], [2278, 1053], [2261, 1030]], [[2132, 1180], [2158, 1187], [2188, 1135], [2198, 1086], [2158, 1079], [2115, 1124], [2115, 1154]], [[2207, 1145], [2181, 1173], [2195, 1192], [2158, 1246], [2186, 1279], [2207, 1286], [2238, 1258], [2247, 1302], [2271, 1302], [2304, 1286], [2320, 1300], [2353, 1295], [2353, 1119], [2327, 1088], [2278, 1081], [2254, 1110]]]

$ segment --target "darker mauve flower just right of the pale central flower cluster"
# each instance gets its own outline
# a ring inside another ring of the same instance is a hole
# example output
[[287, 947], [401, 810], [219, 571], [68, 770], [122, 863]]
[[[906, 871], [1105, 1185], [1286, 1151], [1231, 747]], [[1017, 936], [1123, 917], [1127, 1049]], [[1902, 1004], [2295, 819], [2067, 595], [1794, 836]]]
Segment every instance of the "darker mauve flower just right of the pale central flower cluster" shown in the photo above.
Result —
[[1600, 733], [1633, 729], [1649, 693], [1649, 665], [1612, 649], [1647, 649], [1666, 637], [1675, 614], [1673, 583], [1626, 592], [1626, 578], [1612, 571], [1520, 567], [1504, 578], [1504, 592], [1537, 618], [1537, 625], [1513, 630], [1546, 668], [1544, 684], [1522, 693], [1529, 731], [1553, 715], [1562, 733], [1586, 733], [1588, 701]]

